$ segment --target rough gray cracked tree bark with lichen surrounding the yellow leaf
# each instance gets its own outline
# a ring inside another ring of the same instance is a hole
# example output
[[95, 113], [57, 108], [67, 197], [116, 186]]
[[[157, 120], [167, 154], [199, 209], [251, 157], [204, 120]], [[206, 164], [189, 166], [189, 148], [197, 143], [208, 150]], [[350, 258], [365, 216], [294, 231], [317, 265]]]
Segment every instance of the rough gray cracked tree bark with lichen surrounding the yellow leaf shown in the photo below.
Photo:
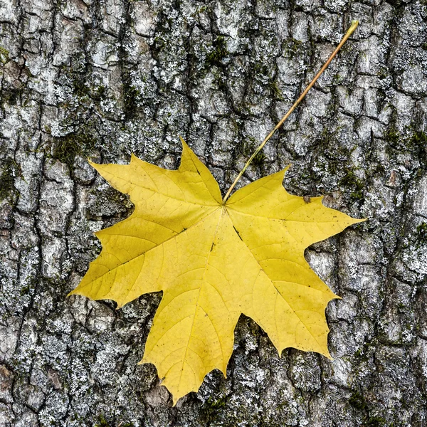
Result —
[[[242, 316], [224, 379], [172, 406], [137, 365], [161, 295], [66, 297], [132, 212], [88, 164], [176, 168], [225, 191], [292, 164], [298, 196], [368, 221], [305, 255], [342, 297], [333, 360]], [[0, 426], [427, 426], [425, 0], [0, 0]]]

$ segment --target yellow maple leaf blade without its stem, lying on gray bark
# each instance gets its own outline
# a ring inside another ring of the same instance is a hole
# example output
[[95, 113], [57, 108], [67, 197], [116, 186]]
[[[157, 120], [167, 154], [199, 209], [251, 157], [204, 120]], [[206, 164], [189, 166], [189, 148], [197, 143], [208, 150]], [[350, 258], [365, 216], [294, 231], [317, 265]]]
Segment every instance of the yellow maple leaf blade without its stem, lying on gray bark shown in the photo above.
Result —
[[92, 164], [130, 195], [133, 214], [98, 231], [99, 257], [70, 294], [118, 307], [163, 291], [142, 362], [157, 367], [174, 403], [197, 391], [212, 369], [226, 375], [243, 313], [286, 347], [330, 357], [327, 303], [337, 298], [312, 271], [304, 250], [364, 220], [306, 202], [283, 187], [285, 170], [223, 202], [209, 169], [182, 139], [178, 170], [143, 162]]

